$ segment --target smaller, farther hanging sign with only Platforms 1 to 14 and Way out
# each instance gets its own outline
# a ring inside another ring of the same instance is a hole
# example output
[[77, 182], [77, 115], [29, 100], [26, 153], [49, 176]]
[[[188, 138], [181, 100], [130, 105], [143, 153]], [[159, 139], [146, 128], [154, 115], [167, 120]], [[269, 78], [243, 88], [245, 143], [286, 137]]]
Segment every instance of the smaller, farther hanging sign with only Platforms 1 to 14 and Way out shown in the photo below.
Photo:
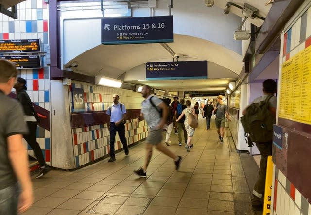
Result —
[[147, 62], [147, 80], [207, 78], [207, 61]]

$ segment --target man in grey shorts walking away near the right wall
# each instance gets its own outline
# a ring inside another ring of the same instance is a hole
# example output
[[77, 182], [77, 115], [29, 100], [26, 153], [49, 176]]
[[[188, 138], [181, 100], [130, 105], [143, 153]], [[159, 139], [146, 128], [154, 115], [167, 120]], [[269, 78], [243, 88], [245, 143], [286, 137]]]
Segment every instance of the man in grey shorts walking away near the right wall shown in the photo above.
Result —
[[223, 103], [224, 96], [219, 95], [217, 96], [217, 104], [214, 109], [216, 111], [216, 119], [215, 124], [217, 128], [217, 133], [219, 136], [220, 143], [224, 143], [224, 134], [225, 134], [225, 116], [227, 117], [228, 121], [230, 122], [230, 117], [228, 113], [228, 106]]

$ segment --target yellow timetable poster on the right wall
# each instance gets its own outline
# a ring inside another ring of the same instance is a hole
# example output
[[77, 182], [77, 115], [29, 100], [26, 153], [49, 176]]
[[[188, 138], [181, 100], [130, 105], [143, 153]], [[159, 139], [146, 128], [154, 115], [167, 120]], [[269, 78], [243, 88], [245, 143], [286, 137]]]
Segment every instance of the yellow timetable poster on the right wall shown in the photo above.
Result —
[[279, 117], [311, 124], [311, 46], [282, 65]]

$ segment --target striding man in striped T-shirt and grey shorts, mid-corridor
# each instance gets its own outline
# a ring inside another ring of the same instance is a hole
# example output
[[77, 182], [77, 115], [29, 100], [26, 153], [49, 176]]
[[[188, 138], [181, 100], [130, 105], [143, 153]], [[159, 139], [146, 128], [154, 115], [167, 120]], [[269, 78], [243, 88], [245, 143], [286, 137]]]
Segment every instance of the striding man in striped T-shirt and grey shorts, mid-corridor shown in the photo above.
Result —
[[[152, 148], [156, 147], [159, 151], [173, 158], [176, 165], [176, 170], [179, 169], [181, 162], [181, 156], [175, 155], [167, 147], [161, 143], [162, 141], [162, 129], [164, 128], [168, 110], [166, 104], [159, 98], [150, 95], [150, 86], [144, 85], [141, 91], [145, 100], [141, 104], [141, 113], [138, 117], [138, 123], [142, 120], [146, 120], [149, 126], [149, 136], [146, 139], [146, 156], [143, 167], [138, 170], [134, 170], [140, 177], [147, 177], [147, 167], [150, 163], [152, 156]], [[162, 116], [160, 110], [162, 109]]]

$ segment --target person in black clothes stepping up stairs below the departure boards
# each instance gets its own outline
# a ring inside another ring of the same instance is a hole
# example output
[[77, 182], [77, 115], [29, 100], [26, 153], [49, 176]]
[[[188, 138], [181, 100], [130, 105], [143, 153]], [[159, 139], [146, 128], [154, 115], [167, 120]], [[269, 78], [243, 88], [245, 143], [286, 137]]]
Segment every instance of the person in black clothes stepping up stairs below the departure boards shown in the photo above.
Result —
[[35, 109], [33, 107], [33, 104], [28, 94], [25, 91], [27, 90], [26, 83], [27, 82], [25, 79], [18, 77], [17, 83], [14, 85], [14, 88], [16, 89], [16, 93], [17, 93], [16, 99], [20, 102], [20, 104], [23, 107], [23, 110], [25, 113], [24, 119], [27, 123], [27, 127], [29, 130], [29, 133], [27, 135], [24, 135], [24, 139], [29, 144], [29, 146], [33, 149], [35, 153], [35, 157], [38, 159], [38, 162], [40, 165], [39, 174], [35, 177], [38, 179], [44, 176], [45, 174], [47, 174], [51, 170], [51, 168], [48, 165], [46, 165], [40, 145], [36, 141], [39, 117], [37, 113], [35, 112]]

